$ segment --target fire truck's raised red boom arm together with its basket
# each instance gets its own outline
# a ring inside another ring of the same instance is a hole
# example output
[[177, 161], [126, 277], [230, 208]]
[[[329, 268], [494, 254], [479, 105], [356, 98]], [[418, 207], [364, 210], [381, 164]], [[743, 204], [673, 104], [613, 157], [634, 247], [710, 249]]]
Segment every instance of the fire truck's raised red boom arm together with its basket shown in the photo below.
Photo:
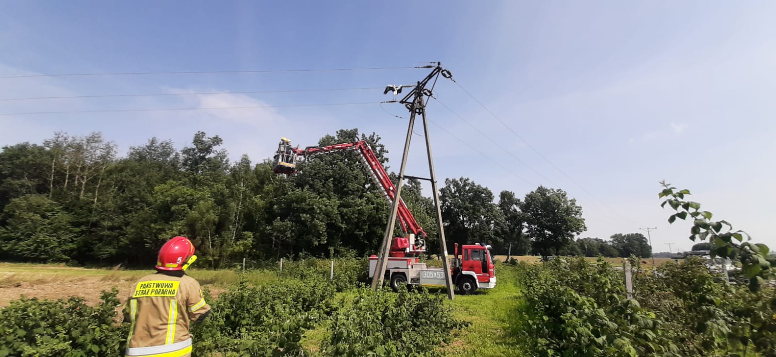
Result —
[[[379, 162], [372, 148], [369, 147], [365, 141], [347, 142], [343, 144], [334, 144], [330, 146], [316, 147], [310, 146], [305, 149], [299, 149], [298, 147], [292, 147], [289, 145], [288, 139], [282, 139], [278, 153], [275, 155], [275, 165], [273, 170], [275, 173], [296, 173], [296, 160], [299, 156], [315, 156], [322, 153], [331, 153], [333, 151], [353, 150], [359, 153], [361, 162], [369, 169], [369, 176], [379, 187], [380, 193], [383, 197], [386, 197], [389, 204], [393, 203], [396, 199], [396, 187], [391, 182], [388, 173], [386, 173], [383, 164]], [[413, 234], [418, 239], [425, 239], [426, 233], [423, 231], [420, 225], [417, 224], [414, 216], [407, 208], [407, 204], [399, 197], [398, 208], [399, 224], [401, 226], [404, 235]]]

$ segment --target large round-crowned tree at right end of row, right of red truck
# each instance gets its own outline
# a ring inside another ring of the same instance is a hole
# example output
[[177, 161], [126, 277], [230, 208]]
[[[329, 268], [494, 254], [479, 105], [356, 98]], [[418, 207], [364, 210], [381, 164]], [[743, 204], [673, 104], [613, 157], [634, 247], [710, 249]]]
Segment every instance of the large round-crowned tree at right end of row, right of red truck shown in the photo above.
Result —
[[587, 227], [582, 208], [566, 191], [539, 186], [525, 195], [521, 206], [528, 237], [542, 256], [557, 253]]

